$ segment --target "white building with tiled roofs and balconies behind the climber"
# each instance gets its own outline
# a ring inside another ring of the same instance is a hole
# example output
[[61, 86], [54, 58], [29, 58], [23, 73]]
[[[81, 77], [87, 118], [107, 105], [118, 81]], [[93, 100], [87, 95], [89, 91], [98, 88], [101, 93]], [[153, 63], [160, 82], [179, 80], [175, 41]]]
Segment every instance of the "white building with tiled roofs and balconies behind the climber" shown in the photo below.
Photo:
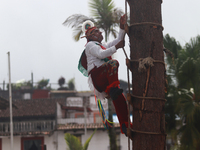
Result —
[[[65, 133], [77, 136], [82, 144], [97, 128], [88, 150], [109, 150], [109, 137], [98, 114], [94, 96], [14, 100], [14, 150], [66, 150]], [[87, 104], [84, 105], [84, 104]], [[107, 110], [107, 101], [102, 102]], [[0, 150], [10, 149], [9, 109], [0, 111]], [[114, 124], [120, 150], [128, 149], [128, 138]], [[131, 146], [131, 145], [130, 145]]]

